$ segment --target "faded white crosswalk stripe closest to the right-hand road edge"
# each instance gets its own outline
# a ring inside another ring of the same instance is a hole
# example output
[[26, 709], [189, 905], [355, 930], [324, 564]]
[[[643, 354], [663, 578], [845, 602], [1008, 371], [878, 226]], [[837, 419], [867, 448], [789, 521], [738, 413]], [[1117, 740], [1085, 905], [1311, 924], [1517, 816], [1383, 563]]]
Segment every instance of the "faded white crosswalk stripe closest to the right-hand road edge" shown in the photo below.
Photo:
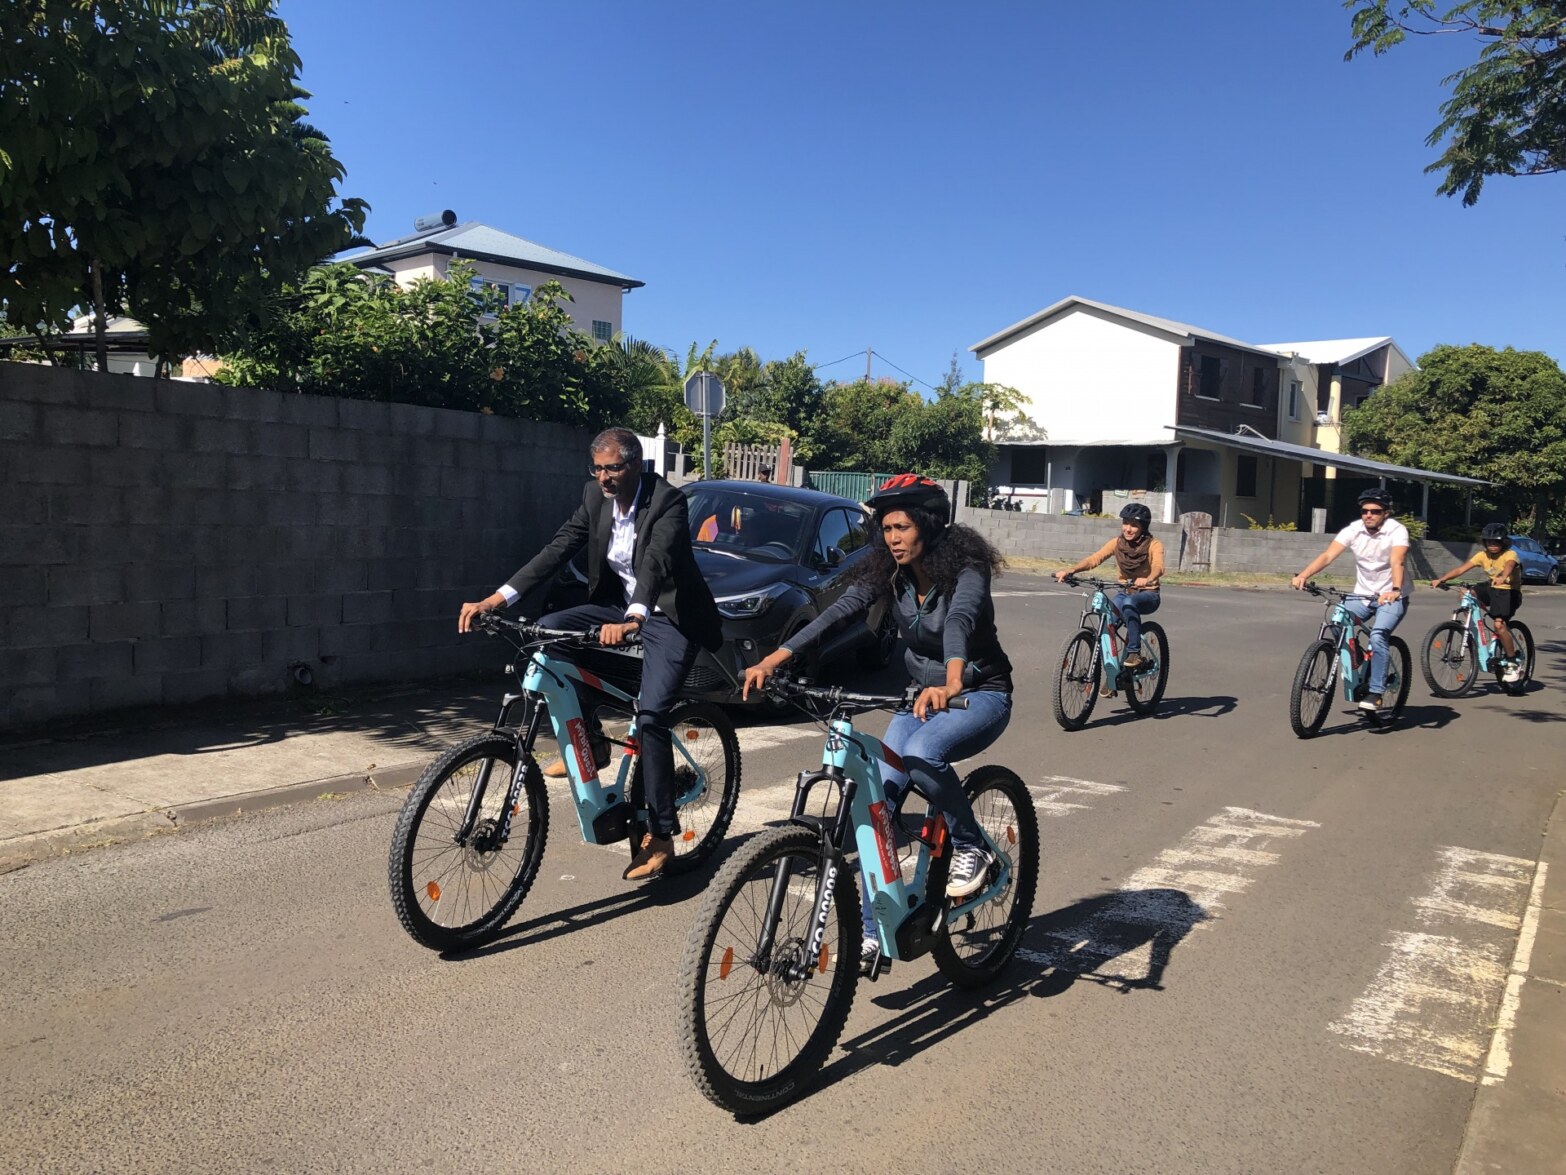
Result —
[[[1430, 888], [1411, 902], [1422, 929], [1392, 935], [1386, 962], [1328, 1031], [1358, 1053], [1460, 1081], [1478, 1081], [1485, 1065], [1485, 1079], [1500, 1081], [1510, 1065], [1506, 995], [1513, 987], [1521, 992], [1532, 935], [1527, 943], [1519, 937], [1510, 976], [1505, 940], [1527, 923], [1530, 874], [1543, 893], [1543, 863], [1453, 844], [1438, 849]], [[1485, 1064], [1485, 1034], [1497, 1004], [1502, 1021]], [[1516, 998], [1510, 1007], [1514, 1020]]]

